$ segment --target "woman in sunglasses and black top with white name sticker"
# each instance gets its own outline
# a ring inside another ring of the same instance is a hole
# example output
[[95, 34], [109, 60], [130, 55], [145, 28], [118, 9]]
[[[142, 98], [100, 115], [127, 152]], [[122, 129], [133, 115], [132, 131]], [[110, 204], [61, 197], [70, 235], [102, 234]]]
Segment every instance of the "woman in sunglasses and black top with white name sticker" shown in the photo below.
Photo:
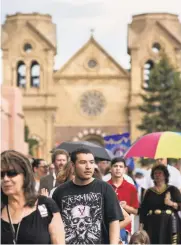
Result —
[[55, 202], [38, 196], [29, 159], [9, 150], [1, 154], [1, 243], [64, 244]]

